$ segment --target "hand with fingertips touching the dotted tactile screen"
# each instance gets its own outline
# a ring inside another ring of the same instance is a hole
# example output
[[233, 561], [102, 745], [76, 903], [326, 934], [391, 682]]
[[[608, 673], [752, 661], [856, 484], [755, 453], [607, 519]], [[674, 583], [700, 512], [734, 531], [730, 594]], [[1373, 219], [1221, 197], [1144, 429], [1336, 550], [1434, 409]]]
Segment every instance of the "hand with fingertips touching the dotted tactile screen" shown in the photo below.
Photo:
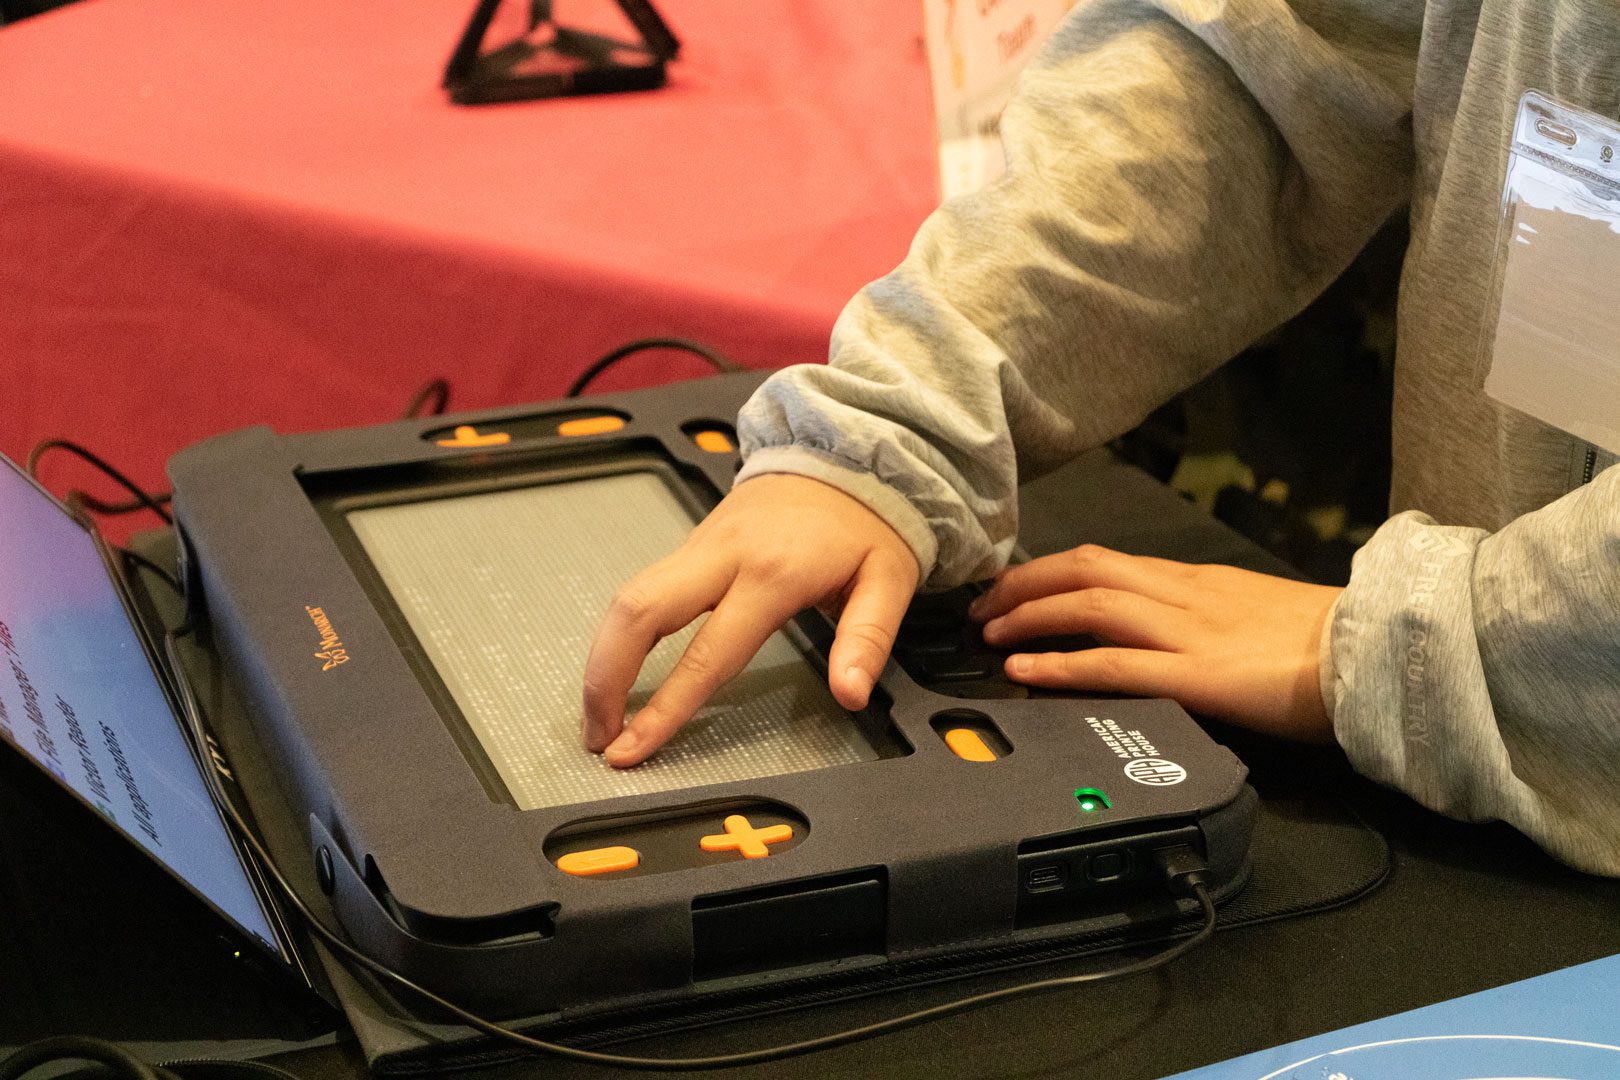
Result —
[[[632, 766], [663, 746], [807, 607], [841, 607], [828, 685], [867, 704], [917, 591], [910, 547], [883, 518], [804, 476], [758, 476], [714, 507], [687, 542], [614, 597], [585, 661], [585, 745]], [[642, 662], [659, 638], [713, 612], [664, 685], [624, 724]]]

